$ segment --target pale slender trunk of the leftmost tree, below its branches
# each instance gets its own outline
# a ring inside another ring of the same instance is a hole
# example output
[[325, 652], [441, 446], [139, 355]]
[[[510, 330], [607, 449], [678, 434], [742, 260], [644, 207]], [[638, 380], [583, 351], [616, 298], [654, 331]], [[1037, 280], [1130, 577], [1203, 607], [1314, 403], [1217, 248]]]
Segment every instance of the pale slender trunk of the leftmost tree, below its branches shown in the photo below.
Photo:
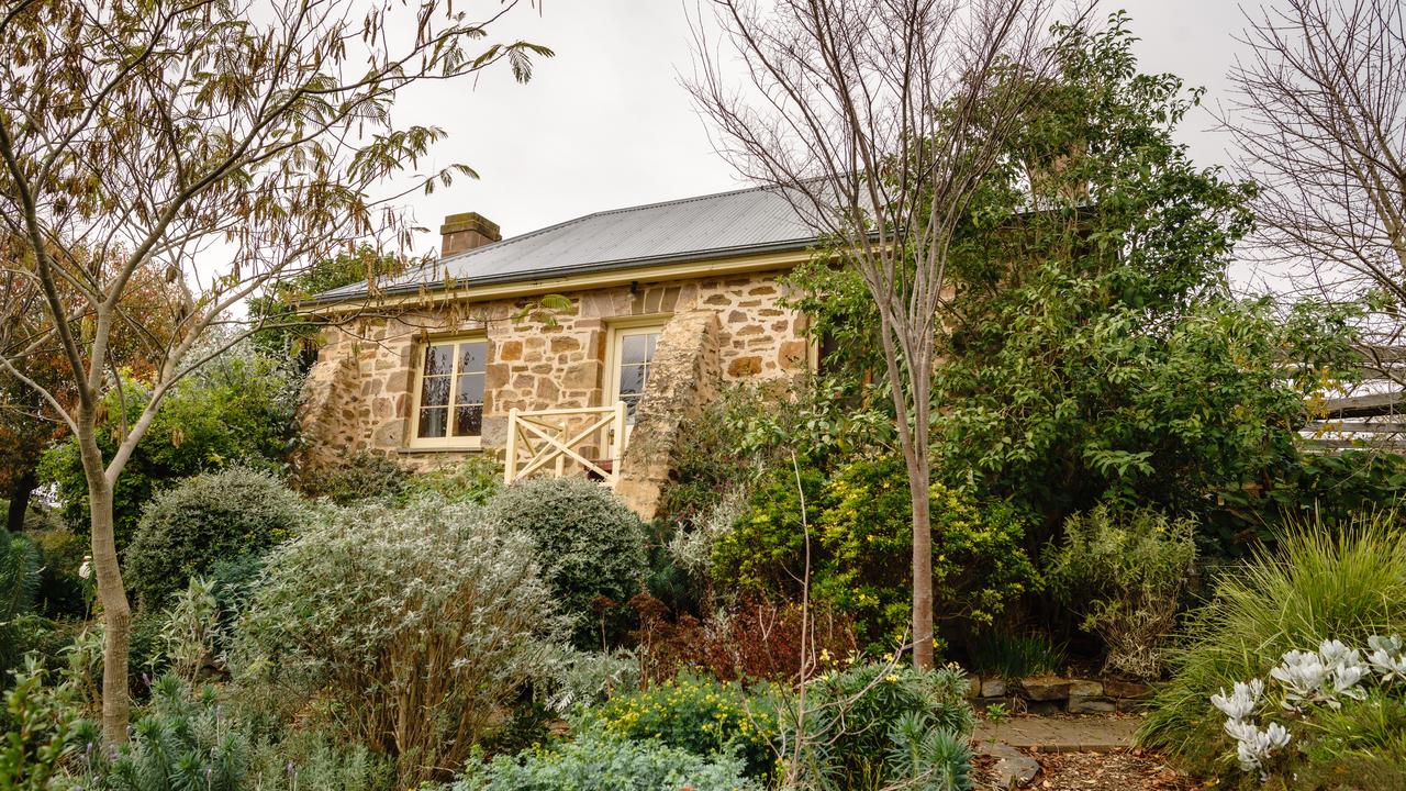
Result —
[[103, 452], [93, 436], [90, 415], [80, 418], [79, 448], [89, 484], [89, 524], [93, 529], [93, 571], [97, 597], [103, 604], [103, 738], [108, 743], [127, 740], [131, 711], [128, 700], [127, 657], [131, 643], [132, 608], [122, 587], [117, 564], [117, 538], [112, 529], [112, 487], [107, 480]]

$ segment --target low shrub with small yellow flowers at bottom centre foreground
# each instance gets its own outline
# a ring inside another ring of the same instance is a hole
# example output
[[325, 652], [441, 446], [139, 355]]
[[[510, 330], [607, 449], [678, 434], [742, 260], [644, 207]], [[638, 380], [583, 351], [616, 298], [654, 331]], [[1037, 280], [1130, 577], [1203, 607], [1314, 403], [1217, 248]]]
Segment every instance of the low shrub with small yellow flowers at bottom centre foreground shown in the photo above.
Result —
[[679, 677], [627, 695], [616, 695], [585, 711], [576, 733], [609, 733], [623, 739], [658, 742], [696, 756], [737, 754], [748, 777], [773, 766], [776, 719], [748, 705], [737, 684], [707, 677]]

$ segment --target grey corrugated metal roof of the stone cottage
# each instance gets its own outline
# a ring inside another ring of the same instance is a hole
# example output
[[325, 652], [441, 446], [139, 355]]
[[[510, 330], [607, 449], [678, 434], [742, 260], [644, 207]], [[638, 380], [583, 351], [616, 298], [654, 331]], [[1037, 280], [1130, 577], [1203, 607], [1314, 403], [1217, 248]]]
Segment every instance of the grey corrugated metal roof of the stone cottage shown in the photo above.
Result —
[[[457, 284], [513, 283], [631, 269], [675, 260], [808, 246], [814, 232], [786, 197], [756, 187], [612, 211], [599, 211], [440, 259], [381, 284], [385, 293]], [[333, 289], [312, 301], [366, 294], [366, 283]]]

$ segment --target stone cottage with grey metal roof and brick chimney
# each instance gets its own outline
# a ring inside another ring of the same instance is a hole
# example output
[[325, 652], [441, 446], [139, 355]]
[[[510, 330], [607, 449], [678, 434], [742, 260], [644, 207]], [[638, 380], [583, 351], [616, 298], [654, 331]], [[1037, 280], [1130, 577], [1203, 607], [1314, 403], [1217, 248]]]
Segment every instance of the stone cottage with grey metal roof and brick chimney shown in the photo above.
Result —
[[780, 276], [815, 238], [766, 189], [602, 211], [502, 239], [444, 220], [437, 262], [319, 294], [305, 470], [498, 453], [506, 476], [600, 477], [654, 515], [681, 421], [725, 383], [814, 366]]

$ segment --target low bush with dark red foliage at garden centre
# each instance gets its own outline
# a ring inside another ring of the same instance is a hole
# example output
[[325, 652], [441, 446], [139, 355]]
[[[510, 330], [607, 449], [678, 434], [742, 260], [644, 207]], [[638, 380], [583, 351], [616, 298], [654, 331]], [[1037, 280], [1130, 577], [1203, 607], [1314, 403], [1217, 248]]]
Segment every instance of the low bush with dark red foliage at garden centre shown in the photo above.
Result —
[[828, 608], [813, 607], [807, 619], [799, 604], [747, 598], [699, 621], [686, 614], [671, 618], [650, 594], [636, 595], [630, 607], [640, 615], [634, 638], [645, 683], [706, 670], [721, 681], [796, 684], [837, 667], [858, 646], [853, 621]]

